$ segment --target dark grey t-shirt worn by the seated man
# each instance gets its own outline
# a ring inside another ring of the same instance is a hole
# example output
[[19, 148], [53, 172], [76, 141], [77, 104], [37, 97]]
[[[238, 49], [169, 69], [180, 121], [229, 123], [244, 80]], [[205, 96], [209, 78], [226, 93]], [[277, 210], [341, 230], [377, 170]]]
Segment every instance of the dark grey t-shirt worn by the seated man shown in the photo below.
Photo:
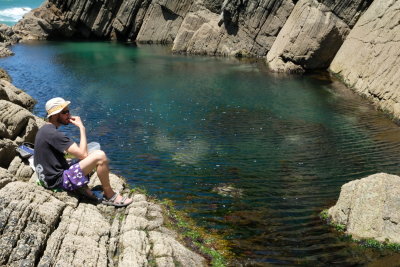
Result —
[[74, 142], [53, 124], [46, 124], [36, 134], [34, 164], [39, 180], [48, 188], [62, 183], [62, 174], [69, 168], [64, 157]]

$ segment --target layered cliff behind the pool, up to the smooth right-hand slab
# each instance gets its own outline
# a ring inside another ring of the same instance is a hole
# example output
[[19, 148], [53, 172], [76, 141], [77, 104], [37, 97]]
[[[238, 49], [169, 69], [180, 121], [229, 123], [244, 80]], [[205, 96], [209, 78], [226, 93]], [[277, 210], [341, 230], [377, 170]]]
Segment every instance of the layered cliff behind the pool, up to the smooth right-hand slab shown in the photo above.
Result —
[[287, 62], [326, 68], [371, 1], [48, 0], [14, 30], [24, 39], [171, 43], [173, 51], [191, 54], [265, 57], [271, 50], [277, 71]]

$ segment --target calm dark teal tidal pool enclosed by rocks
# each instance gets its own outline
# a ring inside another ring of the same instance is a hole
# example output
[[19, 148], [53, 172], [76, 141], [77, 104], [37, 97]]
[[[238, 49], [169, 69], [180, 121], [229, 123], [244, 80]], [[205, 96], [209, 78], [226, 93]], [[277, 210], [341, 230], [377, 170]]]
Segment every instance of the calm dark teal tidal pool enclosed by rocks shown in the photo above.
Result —
[[[173, 199], [227, 235], [248, 265], [363, 265], [398, 254], [361, 248], [318, 214], [340, 187], [399, 174], [400, 130], [322, 75], [275, 76], [262, 62], [176, 56], [163, 46], [16, 45], [0, 59], [38, 100], [72, 101], [90, 141], [133, 186]], [[65, 127], [78, 138], [73, 126]], [[241, 197], [222, 196], [229, 185]]]

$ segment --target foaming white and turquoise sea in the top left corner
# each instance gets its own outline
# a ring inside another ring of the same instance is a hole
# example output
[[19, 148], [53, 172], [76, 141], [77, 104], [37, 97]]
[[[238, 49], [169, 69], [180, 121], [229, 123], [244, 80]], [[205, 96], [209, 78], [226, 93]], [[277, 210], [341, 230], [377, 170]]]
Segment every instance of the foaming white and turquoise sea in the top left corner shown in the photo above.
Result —
[[43, 0], [0, 0], [0, 23], [12, 26], [42, 2]]

